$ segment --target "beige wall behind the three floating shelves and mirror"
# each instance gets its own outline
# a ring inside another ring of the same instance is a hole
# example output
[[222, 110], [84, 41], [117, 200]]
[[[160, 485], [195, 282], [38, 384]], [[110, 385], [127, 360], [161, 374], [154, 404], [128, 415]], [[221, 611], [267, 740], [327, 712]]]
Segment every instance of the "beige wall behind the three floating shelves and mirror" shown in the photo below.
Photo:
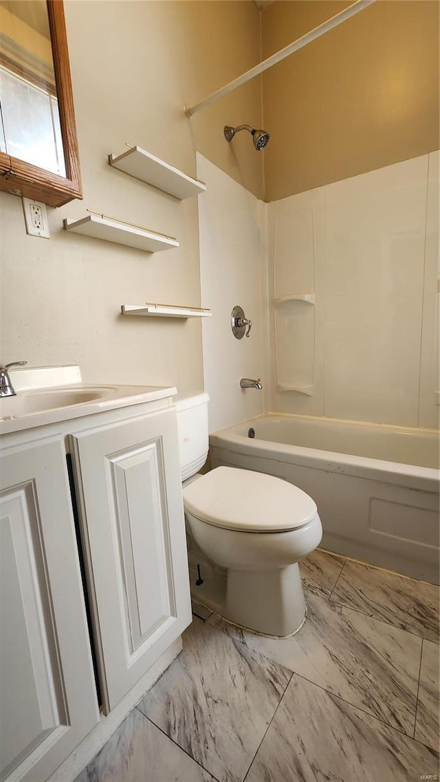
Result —
[[[84, 201], [48, 209], [47, 240], [26, 235], [19, 197], [0, 195], [1, 360], [78, 363], [88, 381], [200, 388], [197, 319], [118, 314], [122, 303], [200, 303], [197, 199], [164, 195], [107, 156], [137, 143], [194, 175], [198, 149], [261, 195], [261, 158], [251, 145], [235, 156], [222, 135], [224, 124], [261, 123], [258, 80], [193, 120], [182, 109], [258, 61], [260, 15], [249, 0], [67, 0], [65, 11]], [[67, 235], [63, 217], [87, 207], [175, 235], [181, 247], [150, 255]]]

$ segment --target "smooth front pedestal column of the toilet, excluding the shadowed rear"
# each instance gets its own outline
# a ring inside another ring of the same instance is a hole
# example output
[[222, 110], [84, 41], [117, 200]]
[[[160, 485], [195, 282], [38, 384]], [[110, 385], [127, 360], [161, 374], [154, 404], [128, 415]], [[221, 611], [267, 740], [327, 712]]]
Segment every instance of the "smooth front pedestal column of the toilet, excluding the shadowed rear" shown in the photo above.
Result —
[[279, 570], [229, 570], [225, 616], [265, 635], [296, 633], [305, 619], [298, 563]]

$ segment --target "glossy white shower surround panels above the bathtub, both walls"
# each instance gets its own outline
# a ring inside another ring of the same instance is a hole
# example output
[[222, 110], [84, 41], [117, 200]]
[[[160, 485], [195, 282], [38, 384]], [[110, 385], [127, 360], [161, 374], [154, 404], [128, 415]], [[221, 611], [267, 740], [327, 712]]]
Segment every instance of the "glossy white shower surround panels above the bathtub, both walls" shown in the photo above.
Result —
[[[438, 428], [439, 163], [266, 204], [197, 155], [211, 431], [263, 411]], [[254, 322], [243, 344], [235, 304]], [[264, 403], [243, 375], [261, 377]]]

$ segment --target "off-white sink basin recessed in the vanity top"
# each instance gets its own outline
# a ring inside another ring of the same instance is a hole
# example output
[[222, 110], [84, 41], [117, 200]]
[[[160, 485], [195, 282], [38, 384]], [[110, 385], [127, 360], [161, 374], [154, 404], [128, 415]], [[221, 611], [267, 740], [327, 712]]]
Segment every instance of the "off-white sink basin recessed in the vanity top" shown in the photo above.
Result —
[[92, 402], [108, 396], [109, 389], [57, 389], [56, 391], [22, 391], [16, 396], [0, 397], [0, 420], [31, 415], [59, 407]]

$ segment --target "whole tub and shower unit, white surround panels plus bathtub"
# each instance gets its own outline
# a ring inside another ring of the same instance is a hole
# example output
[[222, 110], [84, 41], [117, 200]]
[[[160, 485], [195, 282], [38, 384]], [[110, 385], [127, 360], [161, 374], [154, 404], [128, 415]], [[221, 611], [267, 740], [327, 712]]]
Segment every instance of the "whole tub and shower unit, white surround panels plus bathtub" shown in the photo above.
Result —
[[[439, 161], [434, 152], [263, 204], [197, 160], [208, 185], [202, 298], [215, 315], [202, 325], [212, 466], [291, 480], [316, 500], [324, 545], [428, 580], [438, 579]], [[230, 332], [236, 303], [253, 320], [249, 340]], [[240, 390], [244, 374], [264, 391]], [[276, 414], [255, 421], [265, 411]]]

